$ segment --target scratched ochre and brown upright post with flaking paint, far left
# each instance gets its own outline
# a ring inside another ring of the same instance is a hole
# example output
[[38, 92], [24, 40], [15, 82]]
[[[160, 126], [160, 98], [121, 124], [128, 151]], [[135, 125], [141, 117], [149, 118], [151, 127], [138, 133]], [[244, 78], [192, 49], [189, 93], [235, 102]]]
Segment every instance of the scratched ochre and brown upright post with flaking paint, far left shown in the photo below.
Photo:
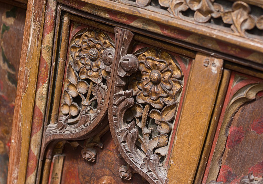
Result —
[[45, 1], [28, 1], [19, 65], [7, 183], [24, 183], [36, 94]]

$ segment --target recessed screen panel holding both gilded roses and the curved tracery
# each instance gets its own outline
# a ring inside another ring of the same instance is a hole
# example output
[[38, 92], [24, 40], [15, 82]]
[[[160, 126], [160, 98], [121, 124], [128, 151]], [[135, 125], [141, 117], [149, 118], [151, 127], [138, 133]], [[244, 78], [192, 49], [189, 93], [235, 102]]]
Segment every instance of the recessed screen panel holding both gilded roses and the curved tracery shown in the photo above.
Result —
[[[82, 183], [95, 182], [93, 177], [105, 179], [99, 173], [104, 170], [108, 182], [122, 182], [121, 178], [140, 181], [139, 175], [132, 176], [139, 173], [150, 183], [165, 183], [193, 54], [124, 28], [66, 12], [60, 16], [61, 32], [57, 34], [61, 40], [55, 41], [58, 47], [53, 56], [40, 155], [44, 161], [41, 167], [51, 164], [52, 177], [44, 170], [37, 182], [48, 178], [52, 182], [70, 181], [70, 172], [62, 171], [63, 160], [68, 167], [69, 158], [61, 156], [69, 143], [83, 160], [96, 163], [72, 166], [79, 171], [78, 181]], [[109, 129], [123, 158], [116, 157], [118, 151], [112, 141], [105, 145], [105, 138], [104, 143], [100, 140], [104, 134], [109, 136]], [[74, 158], [79, 160], [79, 156]], [[105, 162], [113, 165], [102, 170]], [[85, 167], [95, 170], [87, 174]]]

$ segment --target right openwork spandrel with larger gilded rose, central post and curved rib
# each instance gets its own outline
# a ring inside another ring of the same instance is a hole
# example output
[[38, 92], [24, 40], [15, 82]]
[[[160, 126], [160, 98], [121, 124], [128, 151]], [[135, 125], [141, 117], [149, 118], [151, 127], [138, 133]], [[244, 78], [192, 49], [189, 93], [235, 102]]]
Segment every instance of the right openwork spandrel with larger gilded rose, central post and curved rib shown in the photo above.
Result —
[[136, 172], [150, 183], [164, 183], [163, 163], [180, 100], [182, 70], [166, 51], [143, 48], [128, 54], [130, 31], [115, 28], [115, 36], [118, 54], [109, 105], [110, 130], [121, 155]]

